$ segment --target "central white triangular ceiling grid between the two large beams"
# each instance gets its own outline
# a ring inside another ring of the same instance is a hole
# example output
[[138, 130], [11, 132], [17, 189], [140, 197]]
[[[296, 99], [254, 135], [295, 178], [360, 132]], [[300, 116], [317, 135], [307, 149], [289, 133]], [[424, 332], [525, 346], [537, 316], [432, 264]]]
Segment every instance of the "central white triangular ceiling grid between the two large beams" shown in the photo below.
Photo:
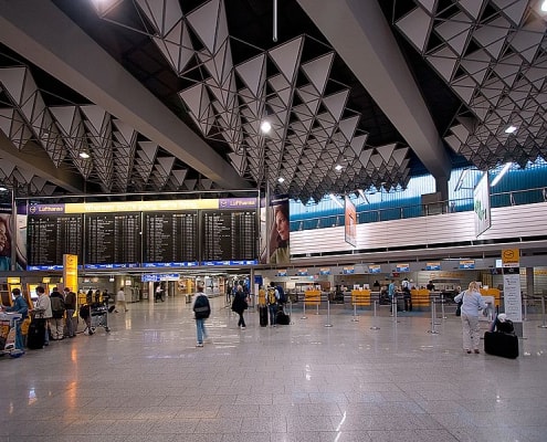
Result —
[[[358, 129], [360, 115], [346, 107], [349, 90], [339, 85], [338, 92], [325, 92], [332, 49], [325, 48], [315, 60], [302, 60], [307, 38], [299, 36], [269, 51], [254, 48], [252, 57], [234, 65], [223, 0], [204, 1], [188, 14], [176, 0], [135, 4], [152, 24], [150, 39], [173, 72], [196, 82], [179, 92], [196, 126], [203, 137], [230, 146], [228, 157], [241, 176], [267, 181], [277, 192], [299, 194], [303, 202], [318, 200], [326, 191], [379, 186], [375, 179], [392, 186], [408, 182], [401, 180], [408, 176], [399, 169], [401, 161], [382, 158], [381, 171], [374, 175], [361, 161], [371, 157], [362, 151], [374, 149], [366, 147], [367, 134]], [[115, 22], [107, 12], [104, 18]], [[308, 83], [297, 86], [303, 77]], [[273, 127], [264, 136], [260, 124], [266, 118]], [[396, 151], [406, 156], [408, 147], [396, 146], [391, 154]], [[354, 182], [326, 179], [341, 160]], [[285, 181], [280, 183], [278, 177]]]

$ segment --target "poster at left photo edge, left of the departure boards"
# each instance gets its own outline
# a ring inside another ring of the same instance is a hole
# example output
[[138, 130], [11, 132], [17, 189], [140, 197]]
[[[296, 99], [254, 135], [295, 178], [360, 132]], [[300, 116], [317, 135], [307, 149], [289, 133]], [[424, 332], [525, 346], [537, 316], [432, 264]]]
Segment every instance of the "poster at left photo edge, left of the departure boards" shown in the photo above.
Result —
[[[15, 246], [14, 250], [12, 245]], [[13, 219], [11, 206], [2, 206], [0, 207], [0, 271], [11, 270], [13, 256], [15, 259], [14, 270], [24, 270], [27, 267], [27, 215], [18, 213]]]

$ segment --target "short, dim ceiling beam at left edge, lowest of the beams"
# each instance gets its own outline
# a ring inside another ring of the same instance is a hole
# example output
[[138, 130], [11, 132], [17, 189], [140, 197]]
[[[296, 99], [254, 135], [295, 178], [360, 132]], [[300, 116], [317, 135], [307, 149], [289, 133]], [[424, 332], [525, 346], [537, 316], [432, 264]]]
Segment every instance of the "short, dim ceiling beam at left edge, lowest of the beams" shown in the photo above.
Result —
[[0, 130], [0, 159], [13, 162], [17, 167], [28, 170], [72, 193], [83, 193], [85, 181], [80, 173], [67, 167], [55, 167], [48, 152], [33, 141], [28, 141], [22, 150]]

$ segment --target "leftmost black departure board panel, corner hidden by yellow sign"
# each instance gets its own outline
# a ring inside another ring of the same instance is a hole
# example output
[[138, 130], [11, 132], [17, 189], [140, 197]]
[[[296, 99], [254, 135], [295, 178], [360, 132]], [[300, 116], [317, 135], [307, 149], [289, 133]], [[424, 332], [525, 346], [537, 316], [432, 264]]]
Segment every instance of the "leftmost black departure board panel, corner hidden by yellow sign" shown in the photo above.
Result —
[[83, 215], [29, 215], [27, 220], [28, 270], [63, 267], [63, 255], [82, 260]]

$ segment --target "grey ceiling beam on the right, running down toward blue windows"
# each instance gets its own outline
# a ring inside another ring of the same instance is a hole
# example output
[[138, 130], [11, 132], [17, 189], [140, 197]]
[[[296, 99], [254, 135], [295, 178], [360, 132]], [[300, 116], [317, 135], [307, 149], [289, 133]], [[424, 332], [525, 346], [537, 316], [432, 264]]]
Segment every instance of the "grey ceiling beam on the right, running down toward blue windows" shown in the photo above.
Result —
[[433, 177], [448, 180], [450, 158], [377, 0], [297, 1]]

